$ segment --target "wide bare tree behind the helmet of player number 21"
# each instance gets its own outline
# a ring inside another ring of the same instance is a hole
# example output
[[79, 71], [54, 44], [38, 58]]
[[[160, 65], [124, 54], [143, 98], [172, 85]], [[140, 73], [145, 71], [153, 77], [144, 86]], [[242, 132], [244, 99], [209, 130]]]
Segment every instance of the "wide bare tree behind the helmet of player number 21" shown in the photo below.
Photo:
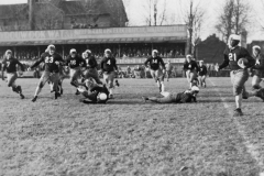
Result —
[[230, 34], [240, 34], [249, 23], [250, 4], [244, 0], [227, 0], [218, 18], [216, 29], [224, 41]]

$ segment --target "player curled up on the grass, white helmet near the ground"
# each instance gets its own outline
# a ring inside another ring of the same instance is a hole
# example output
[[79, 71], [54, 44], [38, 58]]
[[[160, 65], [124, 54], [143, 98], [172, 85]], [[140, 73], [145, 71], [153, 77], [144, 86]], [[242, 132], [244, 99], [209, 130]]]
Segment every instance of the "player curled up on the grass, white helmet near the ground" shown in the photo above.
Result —
[[106, 103], [109, 99], [109, 90], [106, 85], [98, 85], [92, 78], [86, 79], [78, 90], [85, 97], [85, 99], [80, 99], [80, 102], [84, 103]]

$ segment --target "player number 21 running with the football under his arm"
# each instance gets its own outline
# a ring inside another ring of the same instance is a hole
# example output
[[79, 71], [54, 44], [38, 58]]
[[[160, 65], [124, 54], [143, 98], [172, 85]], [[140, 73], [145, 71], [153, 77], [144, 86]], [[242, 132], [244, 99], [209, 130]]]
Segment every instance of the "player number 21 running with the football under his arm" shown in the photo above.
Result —
[[237, 34], [231, 34], [228, 42], [228, 47], [224, 51], [223, 63], [219, 66], [218, 70], [226, 68], [227, 66], [231, 69], [231, 81], [233, 85], [233, 95], [235, 98], [237, 109], [233, 116], [243, 116], [241, 110], [242, 98], [248, 99], [249, 97], [260, 97], [264, 100], [264, 89], [257, 89], [253, 91], [246, 91], [244, 84], [249, 79], [248, 68], [255, 65], [255, 59], [252, 58], [250, 53], [244, 48], [239, 46], [240, 36]]

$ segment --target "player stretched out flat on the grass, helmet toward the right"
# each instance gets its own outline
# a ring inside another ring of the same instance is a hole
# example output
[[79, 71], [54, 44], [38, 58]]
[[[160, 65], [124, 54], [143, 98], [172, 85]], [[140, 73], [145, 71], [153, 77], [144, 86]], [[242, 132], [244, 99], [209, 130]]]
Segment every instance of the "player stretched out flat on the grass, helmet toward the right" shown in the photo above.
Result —
[[196, 102], [196, 96], [199, 92], [199, 88], [197, 86], [193, 86], [190, 89], [185, 90], [179, 94], [170, 94], [167, 91], [161, 92], [162, 98], [157, 97], [142, 97], [142, 99], [146, 102], [147, 100], [152, 102], [158, 103], [186, 103], [186, 102]]

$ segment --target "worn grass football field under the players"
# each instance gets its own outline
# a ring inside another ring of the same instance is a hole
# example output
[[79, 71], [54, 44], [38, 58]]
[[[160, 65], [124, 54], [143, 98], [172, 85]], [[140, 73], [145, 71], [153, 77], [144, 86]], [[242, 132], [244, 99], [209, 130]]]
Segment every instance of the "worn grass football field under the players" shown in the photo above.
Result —
[[[37, 79], [18, 79], [20, 100], [0, 82], [0, 175], [258, 176], [264, 172], [264, 102], [248, 99], [233, 118], [229, 78], [210, 78], [198, 102], [143, 103], [158, 96], [152, 79], [120, 79], [108, 105], [82, 105], [68, 80], [53, 99]], [[187, 88], [170, 79], [168, 91]], [[250, 81], [246, 85], [250, 88]], [[222, 102], [223, 100], [223, 102]], [[187, 169], [180, 172], [180, 167]]]

